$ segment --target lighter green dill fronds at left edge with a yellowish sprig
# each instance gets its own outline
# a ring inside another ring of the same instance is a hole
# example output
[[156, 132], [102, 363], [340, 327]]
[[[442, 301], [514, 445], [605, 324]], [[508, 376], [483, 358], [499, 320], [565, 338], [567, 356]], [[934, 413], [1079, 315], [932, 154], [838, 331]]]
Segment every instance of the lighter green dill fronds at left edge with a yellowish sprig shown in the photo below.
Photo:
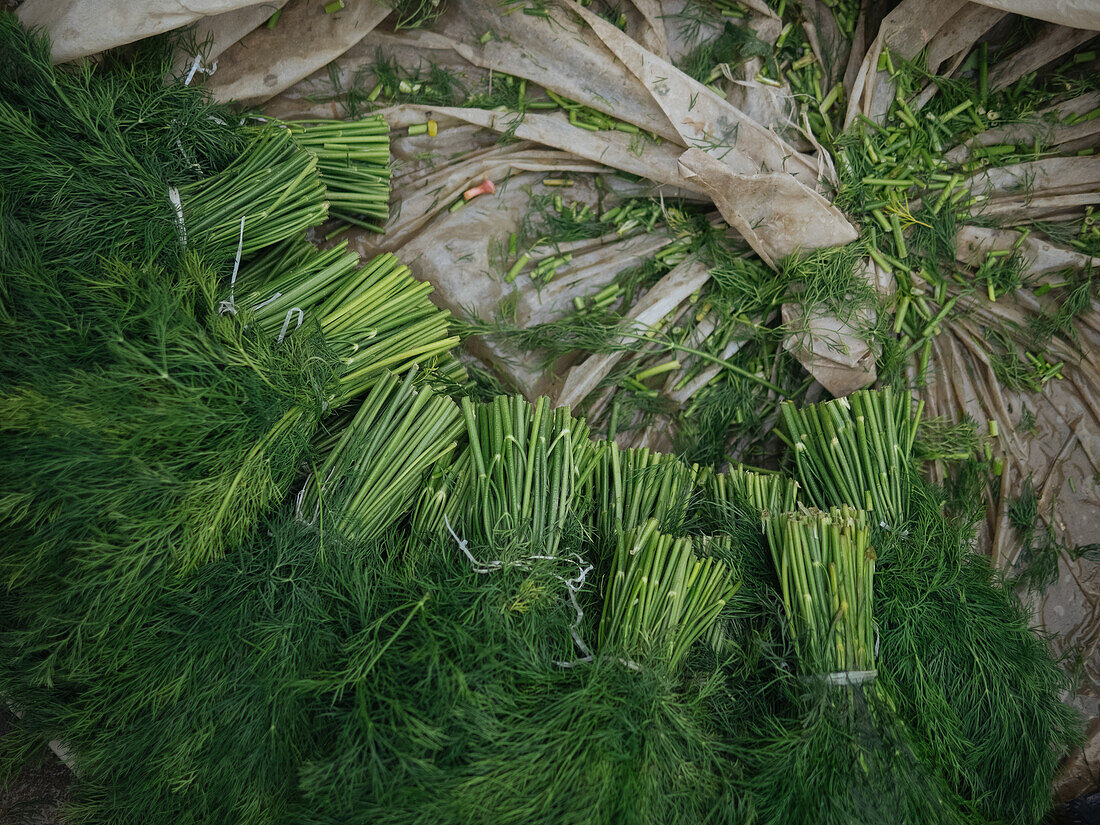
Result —
[[[286, 494], [337, 369], [316, 336], [276, 345], [218, 316], [194, 257], [65, 286], [68, 302], [43, 306], [44, 292], [15, 318], [28, 343], [0, 386], [12, 661], [43, 684], [87, 676], [86, 657], [141, 622], [152, 582], [219, 558]], [[78, 339], [61, 353], [56, 318]]]

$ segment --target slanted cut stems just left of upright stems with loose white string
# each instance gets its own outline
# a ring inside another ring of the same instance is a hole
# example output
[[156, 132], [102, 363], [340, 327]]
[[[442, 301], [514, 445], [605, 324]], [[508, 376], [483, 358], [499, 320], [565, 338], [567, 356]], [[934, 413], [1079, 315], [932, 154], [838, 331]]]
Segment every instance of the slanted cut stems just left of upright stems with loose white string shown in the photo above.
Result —
[[321, 530], [364, 541], [399, 520], [426, 476], [454, 450], [462, 432], [458, 406], [427, 387], [385, 373], [310, 475], [299, 514]]

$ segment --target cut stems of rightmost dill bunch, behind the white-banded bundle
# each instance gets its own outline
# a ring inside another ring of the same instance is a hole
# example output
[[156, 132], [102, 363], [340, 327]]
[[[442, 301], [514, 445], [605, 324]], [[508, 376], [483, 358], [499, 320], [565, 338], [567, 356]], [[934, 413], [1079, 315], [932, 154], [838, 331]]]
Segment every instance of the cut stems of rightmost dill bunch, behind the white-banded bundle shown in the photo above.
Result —
[[904, 521], [923, 406], [914, 414], [909, 395], [889, 387], [801, 409], [782, 404], [788, 443], [806, 497], [818, 507], [862, 507], [891, 527]]

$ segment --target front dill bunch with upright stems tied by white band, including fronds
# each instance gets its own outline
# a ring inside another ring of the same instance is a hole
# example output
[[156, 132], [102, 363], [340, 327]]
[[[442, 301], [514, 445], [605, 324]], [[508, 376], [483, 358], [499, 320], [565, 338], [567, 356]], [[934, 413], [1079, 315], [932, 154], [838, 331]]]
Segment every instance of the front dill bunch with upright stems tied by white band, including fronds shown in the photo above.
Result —
[[972, 822], [879, 670], [876, 557], [868, 515], [849, 506], [769, 515], [766, 530], [796, 659], [776, 708], [739, 751], [767, 822]]

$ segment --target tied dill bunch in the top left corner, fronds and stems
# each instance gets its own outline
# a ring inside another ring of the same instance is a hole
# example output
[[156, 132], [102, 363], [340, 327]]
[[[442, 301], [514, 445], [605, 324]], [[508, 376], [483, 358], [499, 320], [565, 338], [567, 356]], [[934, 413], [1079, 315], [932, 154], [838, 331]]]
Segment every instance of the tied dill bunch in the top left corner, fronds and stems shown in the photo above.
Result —
[[174, 266], [185, 250], [222, 266], [328, 213], [317, 160], [285, 130], [246, 130], [165, 84], [167, 51], [55, 68], [48, 41], [6, 15], [0, 57], [0, 211], [24, 237], [0, 252], [10, 268]]

